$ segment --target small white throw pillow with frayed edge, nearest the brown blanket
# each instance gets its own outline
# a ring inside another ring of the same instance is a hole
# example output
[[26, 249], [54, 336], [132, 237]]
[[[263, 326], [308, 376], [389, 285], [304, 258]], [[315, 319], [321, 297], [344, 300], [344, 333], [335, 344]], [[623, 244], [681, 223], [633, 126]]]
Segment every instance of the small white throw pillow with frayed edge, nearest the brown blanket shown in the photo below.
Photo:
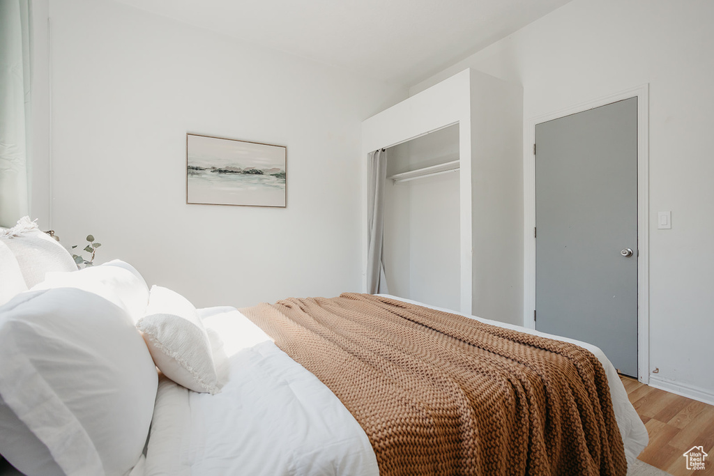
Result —
[[152, 286], [146, 316], [136, 323], [156, 367], [179, 385], [201, 393], [218, 388], [208, 334], [196, 308], [182, 295]]

